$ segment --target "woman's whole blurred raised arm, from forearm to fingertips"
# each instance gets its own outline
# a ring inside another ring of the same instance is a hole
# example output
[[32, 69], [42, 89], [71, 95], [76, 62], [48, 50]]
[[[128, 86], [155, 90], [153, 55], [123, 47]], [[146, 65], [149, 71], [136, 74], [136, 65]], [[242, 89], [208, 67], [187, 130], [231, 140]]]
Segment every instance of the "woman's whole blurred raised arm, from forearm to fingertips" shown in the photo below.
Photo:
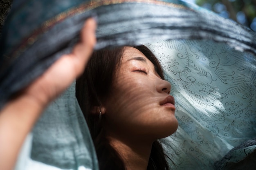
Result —
[[81, 42], [0, 110], [0, 167], [11, 170], [25, 137], [44, 108], [78, 77], [93, 51], [96, 23], [88, 19]]

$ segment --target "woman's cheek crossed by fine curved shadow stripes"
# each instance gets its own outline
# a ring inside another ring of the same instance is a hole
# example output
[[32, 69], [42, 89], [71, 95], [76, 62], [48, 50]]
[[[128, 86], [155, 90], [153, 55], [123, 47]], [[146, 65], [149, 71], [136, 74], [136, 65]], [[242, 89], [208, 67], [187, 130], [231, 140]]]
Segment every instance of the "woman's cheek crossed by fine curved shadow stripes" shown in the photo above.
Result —
[[[128, 119], [149, 109], [154, 100], [154, 86], [143, 79], [126, 78], [116, 82], [108, 103], [113, 119]], [[120, 120], [121, 121], [121, 120]]]

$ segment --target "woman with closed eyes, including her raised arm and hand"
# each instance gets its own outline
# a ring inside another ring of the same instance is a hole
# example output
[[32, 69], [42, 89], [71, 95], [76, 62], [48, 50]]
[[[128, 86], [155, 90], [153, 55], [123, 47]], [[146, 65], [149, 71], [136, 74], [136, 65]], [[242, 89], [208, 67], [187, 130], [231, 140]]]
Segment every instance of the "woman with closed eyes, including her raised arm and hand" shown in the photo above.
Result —
[[[7, 136], [0, 146], [1, 158], [8, 160], [1, 162], [4, 170], [15, 164], [22, 141], [42, 110], [83, 71], [95, 43], [94, 30], [95, 23], [89, 20], [73, 53], [61, 57], [1, 110], [0, 136]], [[94, 53], [77, 82], [77, 97], [84, 113], [89, 113], [85, 116], [100, 168], [168, 169], [156, 140], [175, 132], [177, 119], [171, 85], [163, 79], [157, 59], [144, 46]]]

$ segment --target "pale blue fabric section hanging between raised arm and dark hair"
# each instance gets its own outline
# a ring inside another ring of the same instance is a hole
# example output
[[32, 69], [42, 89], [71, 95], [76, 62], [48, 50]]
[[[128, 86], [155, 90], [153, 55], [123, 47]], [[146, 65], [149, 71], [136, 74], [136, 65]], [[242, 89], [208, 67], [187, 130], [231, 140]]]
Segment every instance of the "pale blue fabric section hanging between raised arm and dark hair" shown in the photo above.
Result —
[[16, 170], [98, 170], [90, 132], [75, 97], [75, 83], [45, 110], [31, 136]]

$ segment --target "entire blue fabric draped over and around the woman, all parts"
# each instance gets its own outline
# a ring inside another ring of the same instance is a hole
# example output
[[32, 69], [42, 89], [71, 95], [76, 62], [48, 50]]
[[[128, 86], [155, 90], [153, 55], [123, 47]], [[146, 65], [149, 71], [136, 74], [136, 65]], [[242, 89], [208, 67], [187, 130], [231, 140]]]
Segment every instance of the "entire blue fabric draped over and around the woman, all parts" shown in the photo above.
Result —
[[[256, 34], [182, 1], [14, 0], [0, 45], [0, 107], [68, 53], [96, 15], [96, 49], [146, 44], [172, 84], [179, 128], [162, 139], [171, 168], [225, 169], [254, 151], [244, 143], [256, 137]], [[47, 108], [17, 169], [98, 169], [74, 91]]]

